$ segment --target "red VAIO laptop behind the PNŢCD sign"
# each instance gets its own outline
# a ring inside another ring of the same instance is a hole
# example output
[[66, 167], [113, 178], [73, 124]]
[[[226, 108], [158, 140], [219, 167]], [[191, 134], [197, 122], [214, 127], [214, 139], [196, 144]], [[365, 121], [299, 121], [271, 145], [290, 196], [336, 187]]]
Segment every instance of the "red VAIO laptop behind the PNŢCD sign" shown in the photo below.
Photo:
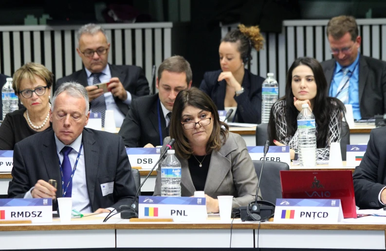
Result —
[[340, 199], [344, 218], [356, 218], [350, 170], [280, 171], [283, 198]]

